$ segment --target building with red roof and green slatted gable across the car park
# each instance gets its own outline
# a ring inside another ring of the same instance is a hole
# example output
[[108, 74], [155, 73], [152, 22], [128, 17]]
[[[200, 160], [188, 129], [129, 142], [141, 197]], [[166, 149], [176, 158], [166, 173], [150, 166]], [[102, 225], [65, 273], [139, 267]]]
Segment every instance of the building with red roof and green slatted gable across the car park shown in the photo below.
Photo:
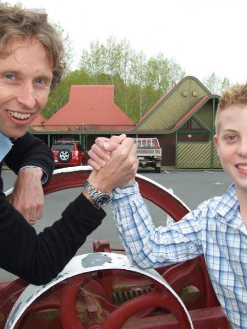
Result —
[[114, 103], [114, 86], [72, 86], [69, 102], [45, 122], [34, 121], [31, 130], [46, 135], [48, 145], [57, 137], [78, 136], [86, 149], [103, 135], [154, 136], [162, 147], [162, 165], [220, 168], [213, 142], [218, 100], [197, 78], [188, 76], [134, 124]]

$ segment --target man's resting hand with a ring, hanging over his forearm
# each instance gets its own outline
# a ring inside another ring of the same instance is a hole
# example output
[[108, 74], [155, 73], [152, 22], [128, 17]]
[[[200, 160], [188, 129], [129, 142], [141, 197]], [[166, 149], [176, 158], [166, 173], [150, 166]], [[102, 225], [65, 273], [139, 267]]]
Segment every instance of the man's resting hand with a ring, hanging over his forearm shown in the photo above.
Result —
[[42, 169], [27, 167], [19, 171], [8, 202], [34, 225], [43, 216], [44, 193], [41, 185]]

